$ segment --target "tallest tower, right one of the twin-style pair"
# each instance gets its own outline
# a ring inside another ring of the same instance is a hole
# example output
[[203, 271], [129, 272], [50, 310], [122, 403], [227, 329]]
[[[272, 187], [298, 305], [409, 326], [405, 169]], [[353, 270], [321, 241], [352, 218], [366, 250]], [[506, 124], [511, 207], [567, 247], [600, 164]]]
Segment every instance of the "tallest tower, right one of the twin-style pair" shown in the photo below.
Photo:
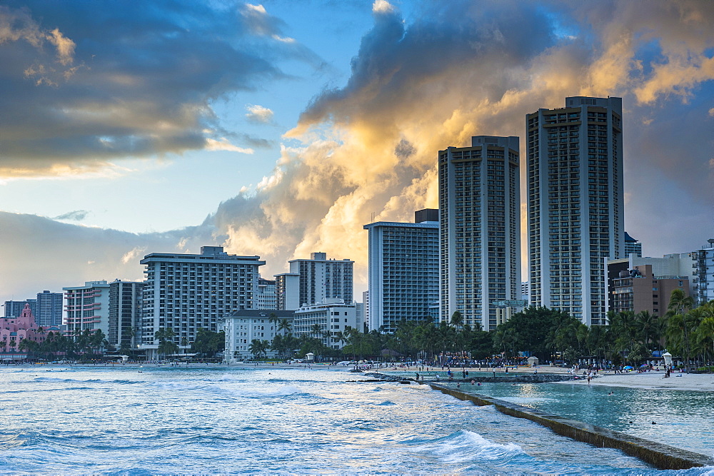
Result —
[[621, 98], [526, 116], [531, 305], [605, 321], [605, 258], [623, 258]]

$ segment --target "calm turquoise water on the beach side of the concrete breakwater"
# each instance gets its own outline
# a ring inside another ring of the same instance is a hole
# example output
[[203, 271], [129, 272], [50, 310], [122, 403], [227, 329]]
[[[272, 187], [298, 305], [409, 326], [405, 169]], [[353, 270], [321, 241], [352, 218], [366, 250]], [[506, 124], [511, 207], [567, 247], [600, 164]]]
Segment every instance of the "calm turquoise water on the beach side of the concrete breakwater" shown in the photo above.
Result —
[[[571, 383], [483, 383], [461, 385], [461, 390], [714, 457], [711, 392]], [[608, 395], [610, 392], [613, 395]]]

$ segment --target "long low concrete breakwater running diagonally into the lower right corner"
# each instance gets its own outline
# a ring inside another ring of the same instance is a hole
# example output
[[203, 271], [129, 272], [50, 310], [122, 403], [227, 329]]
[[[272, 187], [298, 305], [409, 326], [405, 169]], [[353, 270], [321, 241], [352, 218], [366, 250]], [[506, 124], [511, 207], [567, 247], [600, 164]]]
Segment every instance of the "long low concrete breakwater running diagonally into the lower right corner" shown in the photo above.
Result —
[[[539, 376], [540, 375], [538, 375], [538, 377]], [[442, 393], [456, 397], [459, 400], [471, 401], [475, 405], [494, 405], [497, 410], [506, 415], [526, 418], [527, 420], [537, 422], [540, 425], [550, 428], [558, 433], [558, 435], [590, 443], [590, 445], [596, 447], [611, 447], [621, 450], [661, 470], [684, 470], [691, 467], [714, 465], [712, 458], [701, 455], [700, 453], [681, 450], [680, 448], [644, 440], [643, 438], [627, 435], [623, 432], [608, 430], [607, 428], [589, 425], [588, 423], [579, 422], [577, 420], [570, 420], [569, 418], [559, 417], [557, 415], [548, 415], [548, 413], [506, 402], [505, 400], [498, 400], [474, 393], [466, 393], [439, 383], [429, 383], [429, 385], [434, 390], [440, 390]]]

